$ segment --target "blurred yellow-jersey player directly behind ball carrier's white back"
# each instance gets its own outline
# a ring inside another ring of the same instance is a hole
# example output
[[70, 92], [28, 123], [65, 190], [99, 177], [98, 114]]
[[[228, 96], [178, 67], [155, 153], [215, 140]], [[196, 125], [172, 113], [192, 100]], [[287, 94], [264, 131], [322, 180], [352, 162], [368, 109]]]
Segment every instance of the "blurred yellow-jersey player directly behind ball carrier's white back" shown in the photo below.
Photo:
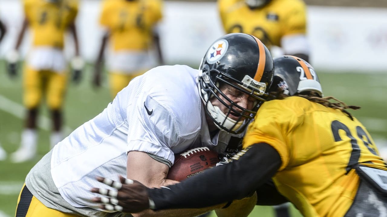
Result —
[[161, 17], [161, 0], [105, 0], [103, 2], [100, 24], [105, 28], [106, 33], [95, 64], [95, 86], [101, 83], [103, 56], [108, 40], [111, 45], [108, 70], [113, 98], [128, 85], [132, 78], [153, 67], [154, 59], [149, 53], [153, 47], [156, 48], [159, 64], [163, 64], [158, 33]]

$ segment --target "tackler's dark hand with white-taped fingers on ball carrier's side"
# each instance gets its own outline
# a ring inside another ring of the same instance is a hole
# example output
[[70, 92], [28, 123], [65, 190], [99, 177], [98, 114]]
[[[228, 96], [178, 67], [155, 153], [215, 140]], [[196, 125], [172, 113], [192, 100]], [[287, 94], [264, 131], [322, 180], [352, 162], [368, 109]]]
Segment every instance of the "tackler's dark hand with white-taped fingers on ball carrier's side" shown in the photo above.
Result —
[[148, 198], [148, 188], [145, 185], [142, 185], [139, 181], [126, 179], [122, 176], [120, 176], [120, 182], [103, 177], [97, 177], [97, 180], [116, 189], [91, 189], [91, 192], [110, 197], [92, 198], [92, 201], [102, 203], [99, 205], [99, 208], [101, 209], [136, 213], [154, 208], [153, 201]]

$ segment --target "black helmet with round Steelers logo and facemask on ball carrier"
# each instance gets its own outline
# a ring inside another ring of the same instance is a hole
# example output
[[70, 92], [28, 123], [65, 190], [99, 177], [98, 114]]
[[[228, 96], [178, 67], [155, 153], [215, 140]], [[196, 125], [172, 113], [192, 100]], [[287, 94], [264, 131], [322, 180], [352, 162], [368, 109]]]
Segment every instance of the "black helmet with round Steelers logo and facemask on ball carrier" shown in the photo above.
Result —
[[[217, 39], [199, 67], [198, 87], [207, 115], [224, 131], [241, 133], [253, 119], [259, 105], [269, 95], [274, 64], [269, 50], [256, 37], [243, 33], [227, 34]], [[252, 110], [243, 108], [221, 92], [220, 85], [230, 85], [257, 100]], [[221, 95], [226, 101], [219, 98]], [[228, 108], [224, 114], [210, 100], [216, 98]], [[237, 111], [235, 108], [238, 108]], [[238, 120], [229, 115], [238, 115]]]

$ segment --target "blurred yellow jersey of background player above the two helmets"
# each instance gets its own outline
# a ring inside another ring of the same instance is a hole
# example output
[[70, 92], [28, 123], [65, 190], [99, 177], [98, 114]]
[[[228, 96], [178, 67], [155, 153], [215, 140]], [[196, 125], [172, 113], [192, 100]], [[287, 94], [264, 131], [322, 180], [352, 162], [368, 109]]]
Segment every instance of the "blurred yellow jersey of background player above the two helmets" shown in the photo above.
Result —
[[250, 9], [245, 0], [218, 0], [226, 33], [243, 32], [259, 38], [269, 49], [281, 46], [281, 38], [306, 32], [306, 6], [302, 0], [272, 0]]

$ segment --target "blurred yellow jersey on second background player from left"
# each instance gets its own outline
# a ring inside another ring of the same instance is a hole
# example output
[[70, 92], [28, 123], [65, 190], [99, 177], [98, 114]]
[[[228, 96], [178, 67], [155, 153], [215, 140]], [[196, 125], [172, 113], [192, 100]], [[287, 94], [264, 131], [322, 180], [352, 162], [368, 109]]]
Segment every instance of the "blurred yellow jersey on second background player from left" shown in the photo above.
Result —
[[148, 49], [161, 8], [160, 0], [105, 0], [100, 23], [110, 31], [113, 50]]

